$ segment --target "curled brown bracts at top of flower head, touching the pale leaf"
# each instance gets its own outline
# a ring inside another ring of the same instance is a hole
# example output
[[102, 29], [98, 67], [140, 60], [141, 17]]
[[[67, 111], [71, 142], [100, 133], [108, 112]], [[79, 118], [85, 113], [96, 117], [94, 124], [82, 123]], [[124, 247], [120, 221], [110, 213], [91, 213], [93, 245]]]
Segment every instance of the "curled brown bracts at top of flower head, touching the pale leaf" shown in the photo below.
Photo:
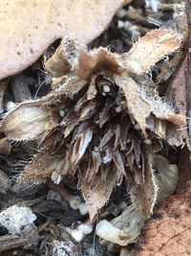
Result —
[[99, 47], [98, 50], [95, 49], [88, 52], [85, 45], [78, 45], [74, 40], [64, 38], [53, 57], [49, 58], [45, 63], [45, 67], [56, 78], [73, 70], [75, 76], [85, 80], [93, 72], [97, 73], [103, 69], [119, 72], [118, 60], [117, 54], [110, 53], [105, 48]]

